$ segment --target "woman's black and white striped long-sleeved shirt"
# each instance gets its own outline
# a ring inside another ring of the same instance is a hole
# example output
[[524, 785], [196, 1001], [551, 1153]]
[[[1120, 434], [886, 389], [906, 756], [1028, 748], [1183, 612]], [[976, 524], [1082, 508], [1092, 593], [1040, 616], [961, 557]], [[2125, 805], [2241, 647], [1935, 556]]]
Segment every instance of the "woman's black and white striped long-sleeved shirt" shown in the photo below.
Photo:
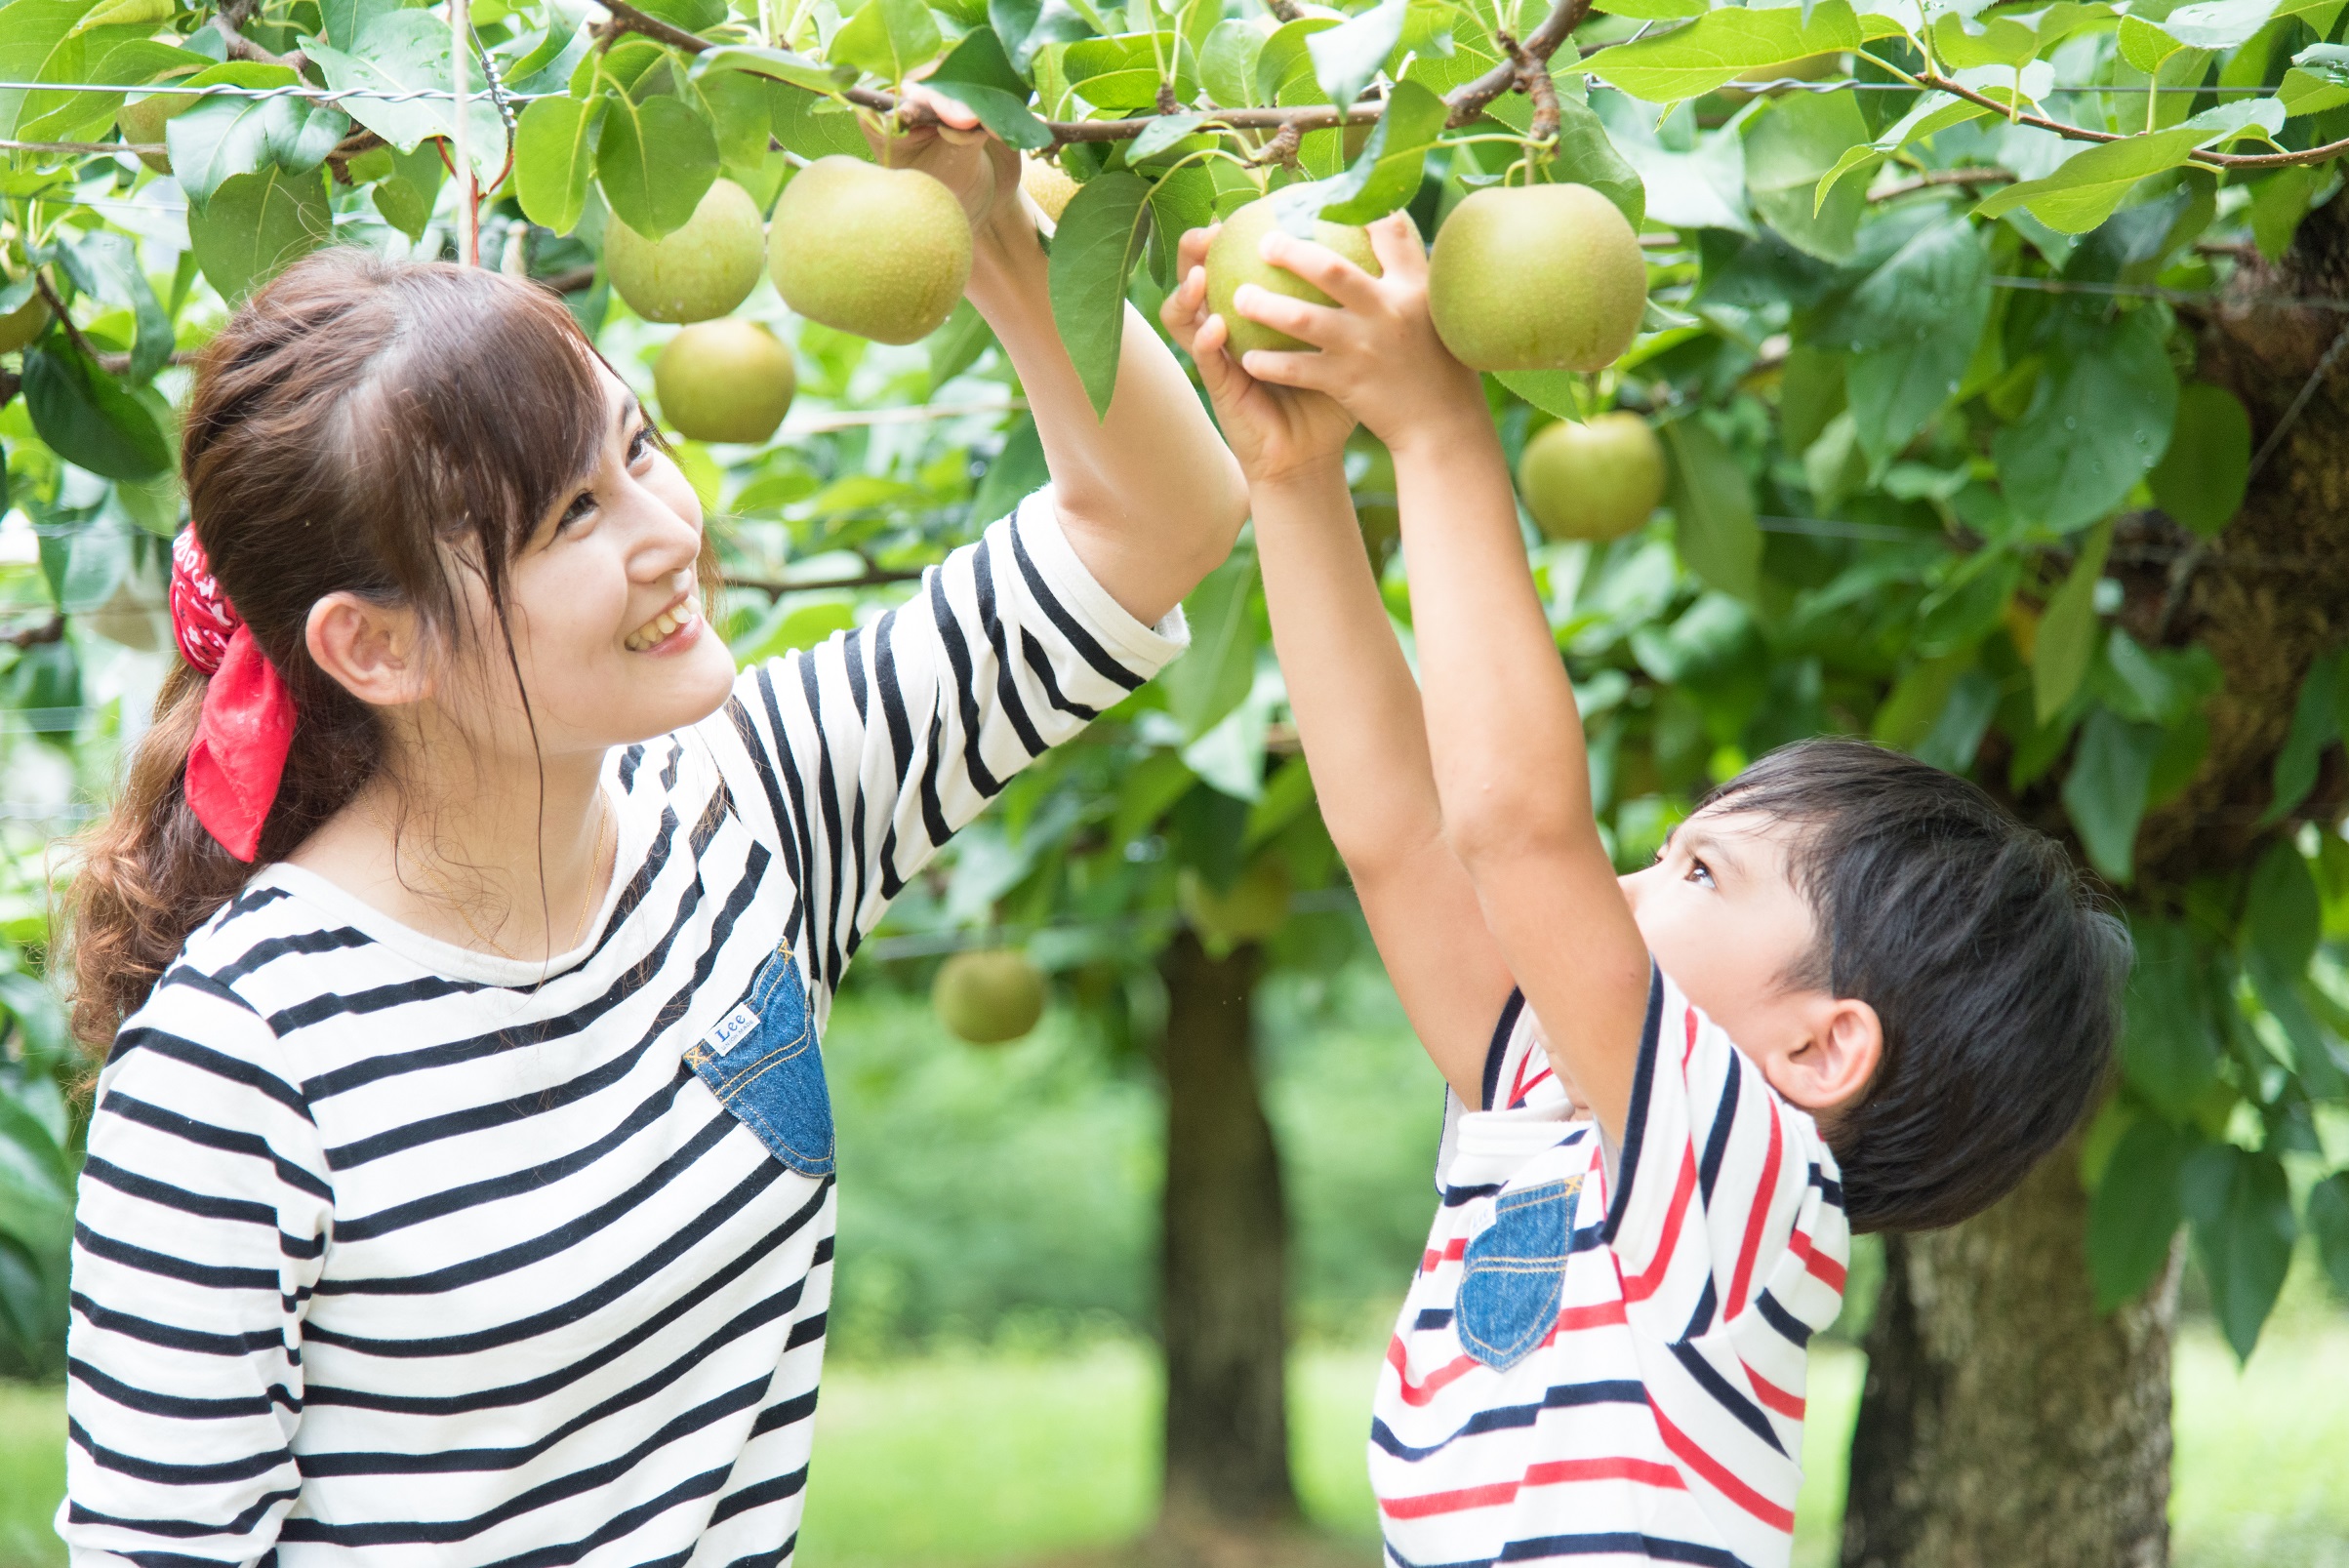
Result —
[[723, 1080], [719, 1045], [789, 1002], [813, 1047], [904, 880], [1182, 638], [1118, 608], [1043, 493], [902, 608], [615, 753], [613, 890], [552, 965], [261, 871], [99, 1080], [73, 1561], [787, 1563], [829, 1110], [820, 1157], [770, 1153], [733, 1094], [780, 1075]]

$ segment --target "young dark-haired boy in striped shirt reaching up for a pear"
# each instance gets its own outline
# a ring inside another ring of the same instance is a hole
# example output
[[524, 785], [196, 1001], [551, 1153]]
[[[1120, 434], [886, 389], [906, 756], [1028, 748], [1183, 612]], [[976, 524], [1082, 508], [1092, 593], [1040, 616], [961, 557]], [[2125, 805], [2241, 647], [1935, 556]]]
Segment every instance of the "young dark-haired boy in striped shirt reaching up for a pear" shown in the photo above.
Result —
[[[1776, 751], [1618, 878], [1478, 376], [1409, 218], [1384, 277], [1273, 232], [1337, 307], [1243, 289], [1318, 352], [1167, 326], [1250, 479], [1290, 699], [1362, 911], [1459, 1099], [1369, 1467], [1398, 1568], [1785, 1563], [1804, 1347], [1851, 1228], [1980, 1211], [2112, 1054], [2126, 937], [2062, 850], [1863, 742]], [[1355, 533], [1344, 441], [1395, 455], [1426, 690]]]

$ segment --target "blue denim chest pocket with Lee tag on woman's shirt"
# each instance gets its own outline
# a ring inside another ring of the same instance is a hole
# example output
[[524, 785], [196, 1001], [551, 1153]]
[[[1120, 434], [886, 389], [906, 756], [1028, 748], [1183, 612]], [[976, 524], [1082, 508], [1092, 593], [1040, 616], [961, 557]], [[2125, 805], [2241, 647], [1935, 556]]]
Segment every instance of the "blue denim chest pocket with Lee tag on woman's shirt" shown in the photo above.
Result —
[[824, 1054], [792, 948], [768, 955], [735, 1009], [686, 1049], [686, 1066], [770, 1155], [801, 1176], [832, 1174]]

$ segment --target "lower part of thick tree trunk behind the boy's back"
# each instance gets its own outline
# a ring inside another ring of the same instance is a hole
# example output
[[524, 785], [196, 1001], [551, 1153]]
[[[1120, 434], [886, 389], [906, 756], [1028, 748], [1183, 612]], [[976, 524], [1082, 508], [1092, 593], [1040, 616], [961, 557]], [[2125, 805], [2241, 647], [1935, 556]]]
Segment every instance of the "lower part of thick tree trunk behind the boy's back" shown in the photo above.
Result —
[[1844, 1568], [2161, 1568], [2182, 1251], [2095, 1312], [2077, 1143], [1999, 1207], [1886, 1237]]

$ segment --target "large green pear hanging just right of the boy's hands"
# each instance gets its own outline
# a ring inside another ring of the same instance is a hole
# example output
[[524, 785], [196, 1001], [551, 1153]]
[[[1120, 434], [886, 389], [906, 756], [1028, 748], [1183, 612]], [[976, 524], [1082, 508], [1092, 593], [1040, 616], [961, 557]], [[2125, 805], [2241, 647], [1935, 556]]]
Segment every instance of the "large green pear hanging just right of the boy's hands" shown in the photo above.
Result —
[[1435, 336], [1473, 371], [1604, 371], [1647, 315], [1647, 258], [1590, 185], [1478, 190], [1435, 230]]

